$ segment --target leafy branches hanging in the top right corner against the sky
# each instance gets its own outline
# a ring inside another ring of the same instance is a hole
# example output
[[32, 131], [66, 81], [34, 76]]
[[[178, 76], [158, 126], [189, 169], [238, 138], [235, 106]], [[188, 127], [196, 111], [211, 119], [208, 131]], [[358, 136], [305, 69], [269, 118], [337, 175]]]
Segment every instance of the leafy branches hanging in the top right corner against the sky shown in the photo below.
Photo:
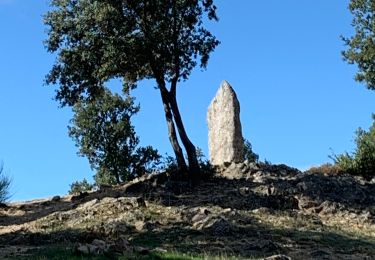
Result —
[[357, 64], [356, 80], [375, 90], [375, 2], [351, 0], [349, 10], [354, 16], [355, 34], [343, 37], [348, 46], [343, 56], [349, 64]]

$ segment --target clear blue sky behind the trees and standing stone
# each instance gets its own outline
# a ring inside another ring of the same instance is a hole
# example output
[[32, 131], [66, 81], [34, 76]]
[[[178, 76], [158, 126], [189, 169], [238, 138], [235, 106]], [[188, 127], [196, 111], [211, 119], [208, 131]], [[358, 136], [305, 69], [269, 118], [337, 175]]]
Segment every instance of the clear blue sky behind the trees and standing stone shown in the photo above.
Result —
[[[368, 128], [375, 92], [354, 82], [340, 35], [351, 35], [348, 0], [216, 1], [221, 40], [208, 69], [181, 84], [178, 99], [192, 141], [207, 152], [206, 111], [222, 80], [241, 102], [243, 133], [261, 159], [305, 169], [353, 148]], [[0, 0], [0, 161], [13, 178], [12, 200], [65, 194], [93, 172], [67, 135], [68, 108], [43, 86], [54, 57], [42, 15], [48, 1]], [[134, 92], [142, 144], [171, 153], [152, 84]]]

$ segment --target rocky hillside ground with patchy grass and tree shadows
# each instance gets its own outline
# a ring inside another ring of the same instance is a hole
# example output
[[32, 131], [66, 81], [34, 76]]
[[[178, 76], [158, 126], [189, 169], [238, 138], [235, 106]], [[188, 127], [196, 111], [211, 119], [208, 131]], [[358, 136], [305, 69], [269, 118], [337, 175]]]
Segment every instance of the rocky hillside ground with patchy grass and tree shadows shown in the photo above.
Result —
[[375, 259], [374, 182], [285, 165], [0, 206], [0, 259]]

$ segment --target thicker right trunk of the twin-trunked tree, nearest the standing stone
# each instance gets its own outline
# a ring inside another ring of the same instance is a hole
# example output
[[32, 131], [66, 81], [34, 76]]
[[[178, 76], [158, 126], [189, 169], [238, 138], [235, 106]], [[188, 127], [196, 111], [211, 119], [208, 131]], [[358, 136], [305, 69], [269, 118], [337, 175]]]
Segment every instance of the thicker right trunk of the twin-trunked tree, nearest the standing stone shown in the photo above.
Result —
[[188, 156], [190, 176], [192, 178], [192, 181], [197, 183], [200, 179], [200, 168], [197, 159], [197, 150], [186, 134], [186, 130], [177, 105], [175, 92], [169, 93], [169, 102], [172, 109], [173, 118], [177, 126], [178, 134]]

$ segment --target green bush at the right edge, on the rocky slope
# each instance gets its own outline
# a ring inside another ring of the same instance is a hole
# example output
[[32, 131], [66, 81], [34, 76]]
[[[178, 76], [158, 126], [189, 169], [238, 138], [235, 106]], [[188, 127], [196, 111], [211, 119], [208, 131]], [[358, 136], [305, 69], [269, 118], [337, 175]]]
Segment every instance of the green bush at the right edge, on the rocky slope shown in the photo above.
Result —
[[356, 132], [356, 148], [353, 153], [333, 155], [332, 159], [345, 172], [362, 175], [366, 178], [375, 176], [375, 116], [369, 131], [359, 128]]

